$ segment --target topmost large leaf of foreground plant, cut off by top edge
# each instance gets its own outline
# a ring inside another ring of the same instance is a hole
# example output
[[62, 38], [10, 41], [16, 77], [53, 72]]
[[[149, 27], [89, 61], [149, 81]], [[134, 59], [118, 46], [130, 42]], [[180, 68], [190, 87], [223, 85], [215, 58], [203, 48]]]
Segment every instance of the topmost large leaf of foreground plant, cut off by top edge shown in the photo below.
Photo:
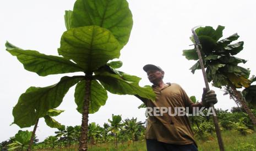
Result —
[[107, 28], [126, 45], [133, 26], [132, 13], [126, 0], [77, 0], [72, 27], [97, 25]]

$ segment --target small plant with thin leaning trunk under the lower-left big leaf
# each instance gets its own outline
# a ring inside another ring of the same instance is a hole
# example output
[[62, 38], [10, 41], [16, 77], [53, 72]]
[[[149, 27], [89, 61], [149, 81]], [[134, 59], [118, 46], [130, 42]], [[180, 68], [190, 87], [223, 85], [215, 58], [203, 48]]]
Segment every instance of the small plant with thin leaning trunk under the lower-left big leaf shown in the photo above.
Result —
[[[52, 117], [56, 117], [59, 114], [61, 114], [62, 112], [64, 112], [64, 110], [49, 109], [47, 114], [43, 117], [45, 119], [46, 125], [48, 125], [49, 127], [52, 127], [52, 128], [59, 128], [59, 127], [61, 127], [62, 125], [60, 123], [58, 123], [58, 121], [56, 121]], [[39, 119], [36, 120], [34, 129], [33, 129], [33, 132], [32, 132], [32, 136], [30, 138], [30, 143], [29, 143], [28, 151], [31, 150], [32, 143], [34, 142], [34, 138], [35, 138], [35, 133], [36, 133], [38, 122], [39, 122]]]

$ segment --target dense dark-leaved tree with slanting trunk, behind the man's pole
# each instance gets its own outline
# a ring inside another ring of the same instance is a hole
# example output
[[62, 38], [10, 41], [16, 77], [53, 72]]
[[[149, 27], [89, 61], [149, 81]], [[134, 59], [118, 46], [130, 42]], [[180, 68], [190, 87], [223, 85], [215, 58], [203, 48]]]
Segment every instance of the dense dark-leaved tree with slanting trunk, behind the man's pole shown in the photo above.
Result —
[[[230, 37], [219, 40], [222, 37], [224, 26], [218, 26], [216, 30], [213, 27], [200, 27], [195, 30], [201, 43], [201, 55], [206, 69], [208, 82], [213, 82], [213, 86], [230, 86], [239, 103], [248, 113], [253, 124], [256, 125], [256, 118], [248, 108], [241, 92], [237, 88], [247, 88], [252, 82], [249, 80], [249, 69], [238, 66], [239, 63], [246, 63], [244, 59], [235, 57], [243, 50], [243, 42], [231, 44], [239, 38], [235, 33]], [[190, 37], [194, 43], [193, 37]], [[183, 55], [188, 60], [198, 60], [196, 49], [183, 50]], [[197, 61], [191, 68], [194, 74], [195, 70], [200, 69], [200, 63]]]

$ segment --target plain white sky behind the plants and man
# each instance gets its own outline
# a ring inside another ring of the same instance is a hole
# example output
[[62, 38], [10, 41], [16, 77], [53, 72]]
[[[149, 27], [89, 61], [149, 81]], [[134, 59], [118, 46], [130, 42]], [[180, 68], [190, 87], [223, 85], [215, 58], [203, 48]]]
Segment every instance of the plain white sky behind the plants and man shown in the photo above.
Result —
[[[10, 43], [23, 49], [37, 50], [47, 55], [58, 55], [57, 48], [61, 35], [66, 31], [64, 10], [73, 9], [74, 0], [1, 0], [0, 1], [0, 141], [7, 140], [18, 132], [13, 122], [12, 108], [19, 96], [29, 86], [48, 86], [55, 84], [64, 75], [40, 77], [26, 71], [23, 65], [5, 51], [4, 43]], [[190, 49], [190, 29], [198, 25], [225, 26], [224, 37], [238, 33], [239, 40], [244, 40], [244, 49], [237, 55], [248, 60], [243, 67], [250, 68], [251, 75], [256, 74], [255, 34], [256, 34], [256, 1], [128, 1], [133, 13], [133, 30], [128, 44], [121, 50], [123, 61], [121, 71], [137, 75], [142, 80], [140, 85], [151, 85], [142, 67], [147, 63], [161, 66], [165, 70], [165, 82], [178, 83], [189, 96], [201, 98], [204, 87], [201, 71], [192, 74], [189, 68], [195, 61], [188, 61], [182, 56], [183, 49]], [[76, 75], [77, 73], [65, 74]], [[78, 73], [80, 74], [80, 73]], [[236, 104], [216, 91], [219, 102], [216, 108], [230, 109]], [[134, 96], [119, 96], [108, 93], [108, 100], [99, 112], [89, 115], [89, 123], [100, 125], [111, 118], [111, 114], [122, 114], [122, 118], [137, 117], [145, 121], [144, 109], [138, 109], [141, 101]], [[66, 110], [57, 117], [64, 125], [80, 125], [81, 114], [76, 111], [74, 86], [64, 97], [58, 107]], [[28, 130], [32, 131], [33, 127]], [[26, 129], [24, 129], [26, 130]], [[36, 131], [40, 141], [54, 131], [40, 119]]]

